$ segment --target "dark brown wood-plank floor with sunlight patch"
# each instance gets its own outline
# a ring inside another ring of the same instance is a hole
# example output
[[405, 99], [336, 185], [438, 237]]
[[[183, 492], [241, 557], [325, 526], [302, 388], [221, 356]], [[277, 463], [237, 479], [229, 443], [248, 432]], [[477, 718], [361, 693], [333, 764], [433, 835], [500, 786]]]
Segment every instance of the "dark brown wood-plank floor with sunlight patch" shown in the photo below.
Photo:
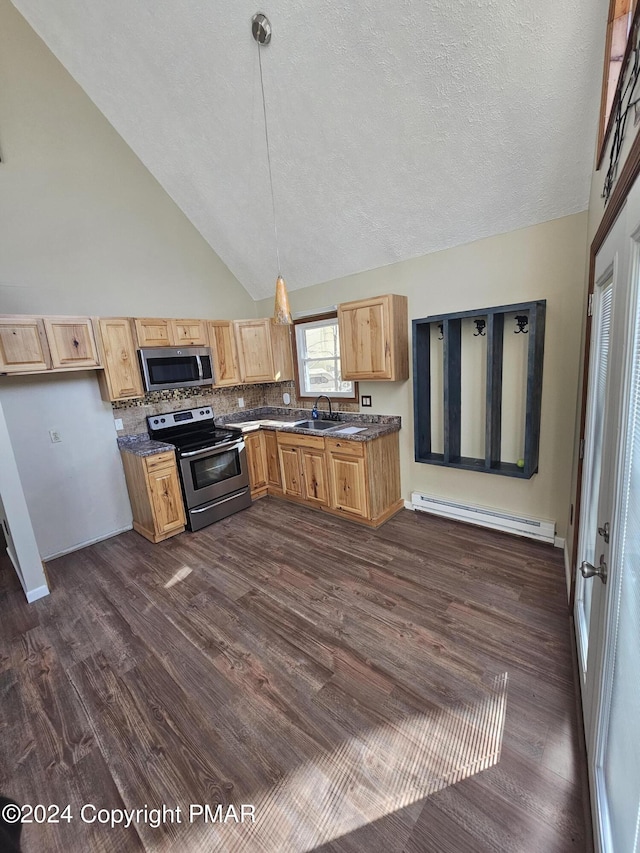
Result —
[[0, 790], [72, 818], [26, 853], [589, 849], [560, 551], [264, 499], [48, 571], [0, 570]]

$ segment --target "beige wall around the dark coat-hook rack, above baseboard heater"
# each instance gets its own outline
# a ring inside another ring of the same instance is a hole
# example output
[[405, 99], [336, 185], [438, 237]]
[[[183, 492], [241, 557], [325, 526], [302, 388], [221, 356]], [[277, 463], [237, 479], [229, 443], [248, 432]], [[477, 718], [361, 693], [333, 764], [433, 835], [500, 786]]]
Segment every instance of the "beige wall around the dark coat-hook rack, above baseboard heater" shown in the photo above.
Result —
[[[306, 312], [381, 293], [406, 294], [409, 319], [494, 305], [547, 300], [540, 471], [523, 481], [440, 468], [413, 459], [413, 389], [407, 382], [361, 383], [374, 412], [402, 416], [402, 490], [414, 489], [557, 522], [569, 514], [572, 447], [580, 358], [587, 213], [479, 240], [345, 279], [291, 291], [292, 310]], [[258, 303], [258, 314], [271, 301]]]

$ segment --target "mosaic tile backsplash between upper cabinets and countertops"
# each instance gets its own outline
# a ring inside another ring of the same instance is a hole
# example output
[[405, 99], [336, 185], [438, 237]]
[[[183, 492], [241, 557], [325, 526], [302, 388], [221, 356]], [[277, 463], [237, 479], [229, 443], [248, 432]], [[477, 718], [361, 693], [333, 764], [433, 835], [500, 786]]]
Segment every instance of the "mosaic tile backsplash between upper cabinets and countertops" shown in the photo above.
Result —
[[[285, 406], [282, 395], [288, 393], [291, 402]], [[138, 400], [112, 403], [114, 417], [121, 418], [121, 434], [146, 433], [148, 415], [211, 406], [215, 415], [230, 415], [242, 412], [238, 397], [244, 400], [244, 409], [260, 406], [279, 406], [285, 409], [310, 409], [310, 400], [298, 400], [295, 382], [271, 382], [264, 385], [237, 385], [233, 388], [176, 388], [172, 391], [152, 391]], [[341, 412], [358, 412], [357, 403], [336, 401], [334, 408]]]

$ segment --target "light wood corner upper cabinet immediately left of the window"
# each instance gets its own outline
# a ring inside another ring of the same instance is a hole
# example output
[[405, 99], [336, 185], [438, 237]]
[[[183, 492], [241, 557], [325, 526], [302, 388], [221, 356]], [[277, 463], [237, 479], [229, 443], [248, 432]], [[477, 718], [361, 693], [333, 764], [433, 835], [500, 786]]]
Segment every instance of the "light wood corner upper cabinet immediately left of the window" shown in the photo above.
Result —
[[234, 322], [242, 382], [283, 382], [293, 379], [291, 327], [269, 318]]

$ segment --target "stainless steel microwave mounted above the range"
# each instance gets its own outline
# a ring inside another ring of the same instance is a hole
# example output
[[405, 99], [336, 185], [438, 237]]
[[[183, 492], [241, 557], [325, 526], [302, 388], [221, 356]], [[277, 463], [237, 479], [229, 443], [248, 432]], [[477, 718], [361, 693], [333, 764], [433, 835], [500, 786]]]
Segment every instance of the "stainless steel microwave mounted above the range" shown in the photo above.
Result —
[[213, 384], [209, 347], [145, 347], [138, 356], [147, 391]]

